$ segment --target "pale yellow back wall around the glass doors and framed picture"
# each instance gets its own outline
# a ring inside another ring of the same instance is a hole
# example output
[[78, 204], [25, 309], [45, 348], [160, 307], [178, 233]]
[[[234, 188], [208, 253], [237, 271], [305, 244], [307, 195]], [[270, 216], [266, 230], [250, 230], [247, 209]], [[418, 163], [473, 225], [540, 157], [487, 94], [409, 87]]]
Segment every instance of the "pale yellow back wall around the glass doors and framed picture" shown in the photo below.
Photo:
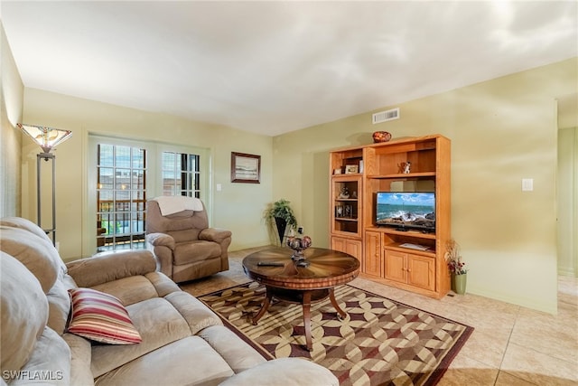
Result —
[[[39, 89], [25, 89], [23, 121], [73, 132], [69, 140], [53, 151], [57, 158], [57, 239], [65, 260], [92, 252], [86, 247], [89, 245], [86, 238], [92, 238], [88, 229], [92, 219], [96, 219], [94, 213], [86, 210], [88, 166], [85, 155], [89, 133], [208, 148], [213, 166], [209, 193], [211, 224], [233, 232], [231, 250], [269, 242], [262, 214], [271, 202], [271, 137]], [[32, 140], [24, 138], [23, 217], [33, 221], [36, 219], [35, 175], [39, 150]], [[230, 183], [230, 154], [233, 151], [261, 155], [261, 184]], [[222, 184], [221, 192], [214, 189], [216, 184]], [[50, 202], [43, 202], [43, 205], [50, 205]]]

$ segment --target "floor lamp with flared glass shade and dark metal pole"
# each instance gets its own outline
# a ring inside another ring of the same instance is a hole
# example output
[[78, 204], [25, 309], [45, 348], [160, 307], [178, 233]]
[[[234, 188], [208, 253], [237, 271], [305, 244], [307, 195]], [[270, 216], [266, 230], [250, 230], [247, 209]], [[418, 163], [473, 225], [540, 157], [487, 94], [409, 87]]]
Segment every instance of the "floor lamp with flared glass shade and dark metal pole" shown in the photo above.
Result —
[[33, 138], [39, 146], [42, 147], [42, 153], [36, 155], [36, 211], [37, 224], [42, 227], [42, 189], [41, 189], [41, 162], [52, 161], [52, 221], [49, 229], [44, 229], [46, 234], [51, 234], [52, 244], [56, 246], [56, 155], [51, 154], [54, 146], [66, 141], [72, 136], [70, 130], [61, 130], [60, 128], [42, 127], [34, 125], [16, 124], [29, 137]]

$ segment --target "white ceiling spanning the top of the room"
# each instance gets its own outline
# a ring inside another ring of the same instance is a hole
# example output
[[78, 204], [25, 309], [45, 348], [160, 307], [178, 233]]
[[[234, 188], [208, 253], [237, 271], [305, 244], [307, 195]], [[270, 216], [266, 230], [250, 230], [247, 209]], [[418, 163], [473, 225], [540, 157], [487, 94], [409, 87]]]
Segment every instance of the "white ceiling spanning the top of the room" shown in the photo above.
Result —
[[578, 3], [11, 2], [25, 87], [275, 136], [578, 56]]

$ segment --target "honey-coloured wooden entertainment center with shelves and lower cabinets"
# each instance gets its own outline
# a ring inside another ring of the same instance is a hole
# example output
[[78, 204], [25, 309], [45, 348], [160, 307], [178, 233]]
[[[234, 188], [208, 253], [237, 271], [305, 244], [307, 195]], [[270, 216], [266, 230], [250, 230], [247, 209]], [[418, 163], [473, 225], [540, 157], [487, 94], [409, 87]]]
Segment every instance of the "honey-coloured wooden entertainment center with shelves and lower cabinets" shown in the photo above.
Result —
[[[331, 249], [361, 261], [361, 277], [428, 297], [450, 290], [450, 139], [394, 139], [330, 152]], [[404, 170], [411, 163], [410, 170]], [[376, 224], [378, 192], [433, 192], [435, 231]]]

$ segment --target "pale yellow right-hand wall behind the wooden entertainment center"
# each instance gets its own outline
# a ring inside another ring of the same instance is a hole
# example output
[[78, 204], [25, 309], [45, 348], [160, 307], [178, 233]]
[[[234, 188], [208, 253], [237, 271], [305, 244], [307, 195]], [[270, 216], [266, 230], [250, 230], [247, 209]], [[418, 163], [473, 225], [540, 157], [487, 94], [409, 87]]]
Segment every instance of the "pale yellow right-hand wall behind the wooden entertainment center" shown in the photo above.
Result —
[[[555, 99], [576, 91], [577, 68], [574, 58], [400, 103], [387, 123], [372, 125], [368, 112], [275, 137], [273, 196], [294, 202], [305, 233], [328, 246], [329, 149], [368, 144], [376, 130], [442, 134], [452, 139], [452, 235], [468, 291], [555, 312]], [[522, 178], [533, 192], [521, 192]]]

